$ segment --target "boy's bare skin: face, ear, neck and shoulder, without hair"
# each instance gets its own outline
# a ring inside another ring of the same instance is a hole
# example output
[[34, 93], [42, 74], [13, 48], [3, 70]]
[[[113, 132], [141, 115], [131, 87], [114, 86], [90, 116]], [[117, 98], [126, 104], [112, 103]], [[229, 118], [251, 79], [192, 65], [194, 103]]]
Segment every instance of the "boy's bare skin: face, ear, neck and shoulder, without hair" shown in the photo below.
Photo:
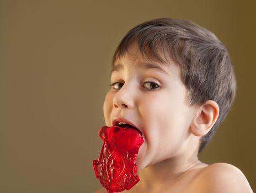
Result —
[[129, 121], [145, 138], [136, 159], [140, 182], [124, 192], [253, 192], [233, 165], [198, 159], [200, 137], [215, 124], [219, 109], [212, 100], [189, 106], [178, 65], [142, 57], [133, 44], [115, 61], [111, 85], [106, 126]]

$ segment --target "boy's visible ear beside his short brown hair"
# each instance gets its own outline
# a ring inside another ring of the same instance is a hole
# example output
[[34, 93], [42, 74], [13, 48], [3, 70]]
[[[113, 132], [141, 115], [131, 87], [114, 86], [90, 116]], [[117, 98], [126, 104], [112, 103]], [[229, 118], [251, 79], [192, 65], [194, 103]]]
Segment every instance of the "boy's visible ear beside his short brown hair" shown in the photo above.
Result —
[[199, 137], [206, 135], [217, 121], [219, 112], [218, 104], [213, 100], [200, 105], [190, 126], [191, 133]]

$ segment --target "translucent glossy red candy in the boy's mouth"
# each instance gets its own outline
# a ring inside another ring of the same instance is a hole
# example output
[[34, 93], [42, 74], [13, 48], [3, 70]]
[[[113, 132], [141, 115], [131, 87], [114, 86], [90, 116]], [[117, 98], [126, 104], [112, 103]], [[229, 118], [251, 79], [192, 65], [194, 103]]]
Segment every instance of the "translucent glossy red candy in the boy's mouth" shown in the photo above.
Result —
[[99, 136], [103, 146], [99, 159], [93, 160], [96, 177], [109, 193], [130, 190], [140, 181], [135, 159], [144, 142], [141, 133], [133, 128], [104, 126]]

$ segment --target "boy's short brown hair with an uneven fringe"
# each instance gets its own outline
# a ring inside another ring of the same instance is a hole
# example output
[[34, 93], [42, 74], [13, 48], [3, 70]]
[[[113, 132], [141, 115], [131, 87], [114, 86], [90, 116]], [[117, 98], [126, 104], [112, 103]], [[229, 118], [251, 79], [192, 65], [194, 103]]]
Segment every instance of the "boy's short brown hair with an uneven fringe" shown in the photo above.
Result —
[[210, 132], [201, 137], [201, 152], [225, 119], [236, 95], [234, 67], [226, 47], [211, 31], [193, 22], [160, 18], [131, 29], [116, 49], [113, 63], [133, 43], [143, 56], [162, 63], [172, 58], [181, 67], [190, 105], [207, 100], [218, 104], [220, 114]]

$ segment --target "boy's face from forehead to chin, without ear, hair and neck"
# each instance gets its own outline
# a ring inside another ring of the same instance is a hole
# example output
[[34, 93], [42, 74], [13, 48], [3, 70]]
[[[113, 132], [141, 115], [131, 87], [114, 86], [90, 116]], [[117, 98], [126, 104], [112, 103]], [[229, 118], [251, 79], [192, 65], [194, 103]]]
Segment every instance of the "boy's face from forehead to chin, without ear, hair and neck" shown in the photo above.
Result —
[[130, 122], [142, 132], [138, 169], [184, 153], [195, 108], [186, 104], [178, 65], [145, 59], [131, 46], [115, 61], [111, 84], [104, 101], [106, 126]]

